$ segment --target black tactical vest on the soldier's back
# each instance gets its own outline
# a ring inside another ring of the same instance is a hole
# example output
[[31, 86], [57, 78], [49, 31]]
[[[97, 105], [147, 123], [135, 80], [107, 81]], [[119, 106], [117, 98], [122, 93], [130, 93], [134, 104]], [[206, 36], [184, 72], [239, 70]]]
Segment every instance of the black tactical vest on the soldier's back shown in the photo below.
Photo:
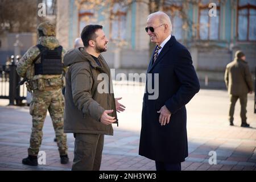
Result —
[[61, 63], [62, 46], [51, 50], [41, 44], [36, 45], [40, 50], [41, 63], [35, 63], [35, 75], [61, 75], [63, 63]]

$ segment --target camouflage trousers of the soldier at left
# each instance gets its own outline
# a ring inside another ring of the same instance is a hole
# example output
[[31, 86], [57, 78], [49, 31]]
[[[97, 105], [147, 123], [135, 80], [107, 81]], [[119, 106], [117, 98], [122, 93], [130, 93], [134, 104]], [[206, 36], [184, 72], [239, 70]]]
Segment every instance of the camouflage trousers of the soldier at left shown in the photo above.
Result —
[[30, 104], [32, 133], [28, 155], [38, 155], [43, 138], [43, 125], [47, 110], [52, 119], [60, 155], [67, 154], [67, 135], [63, 132], [64, 99], [61, 89], [50, 91], [35, 90]]

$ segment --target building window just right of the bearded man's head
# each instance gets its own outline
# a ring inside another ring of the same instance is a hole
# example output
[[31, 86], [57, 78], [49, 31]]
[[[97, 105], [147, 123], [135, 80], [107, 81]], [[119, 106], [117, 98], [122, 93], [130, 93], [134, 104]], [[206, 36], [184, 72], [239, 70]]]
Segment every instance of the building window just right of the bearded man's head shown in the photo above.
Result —
[[126, 39], [126, 7], [114, 3], [110, 11], [110, 39]]

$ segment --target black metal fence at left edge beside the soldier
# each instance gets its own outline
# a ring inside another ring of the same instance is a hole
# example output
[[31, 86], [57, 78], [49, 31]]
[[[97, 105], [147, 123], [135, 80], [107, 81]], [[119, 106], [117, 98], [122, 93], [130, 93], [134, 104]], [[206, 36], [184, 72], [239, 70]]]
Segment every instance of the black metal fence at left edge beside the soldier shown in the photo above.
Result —
[[26, 100], [27, 88], [18, 86], [20, 77], [16, 72], [19, 56], [11, 56], [6, 65], [0, 67], [0, 99], [9, 99], [9, 105], [22, 105]]

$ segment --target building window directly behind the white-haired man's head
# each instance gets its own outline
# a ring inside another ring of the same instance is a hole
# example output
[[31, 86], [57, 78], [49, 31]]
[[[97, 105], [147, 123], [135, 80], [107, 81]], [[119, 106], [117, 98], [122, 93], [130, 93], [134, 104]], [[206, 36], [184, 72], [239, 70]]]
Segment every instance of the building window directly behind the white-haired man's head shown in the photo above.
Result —
[[163, 10], [168, 16], [170, 16], [172, 22], [172, 35], [175, 36], [177, 40], [182, 39], [183, 32], [183, 11], [182, 11], [182, 2], [164, 2]]

